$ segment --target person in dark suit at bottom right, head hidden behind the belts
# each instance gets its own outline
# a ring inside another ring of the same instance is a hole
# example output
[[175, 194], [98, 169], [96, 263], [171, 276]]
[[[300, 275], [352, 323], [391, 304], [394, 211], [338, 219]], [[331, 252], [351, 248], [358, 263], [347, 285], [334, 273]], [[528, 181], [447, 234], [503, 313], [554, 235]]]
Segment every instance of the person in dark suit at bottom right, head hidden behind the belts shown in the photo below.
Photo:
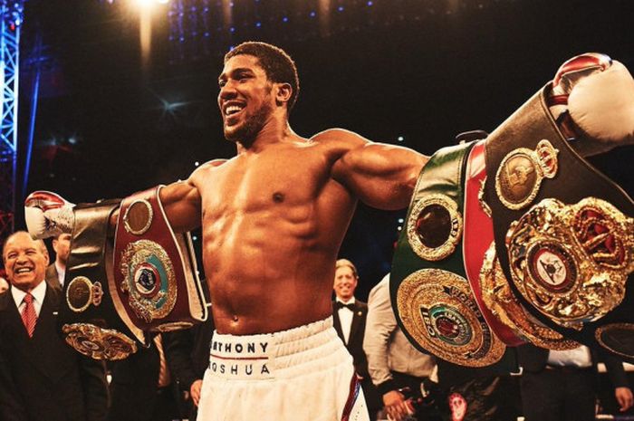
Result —
[[[526, 421], [594, 420], [597, 352], [584, 346], [549, 351], [527, 344], [517, 348], [517, 357], [524, 368], [520, 390]], [[607, 353], [600, 357], [608, 370], [620, 410], [628, 410], [633, 397], [623, 363]]]

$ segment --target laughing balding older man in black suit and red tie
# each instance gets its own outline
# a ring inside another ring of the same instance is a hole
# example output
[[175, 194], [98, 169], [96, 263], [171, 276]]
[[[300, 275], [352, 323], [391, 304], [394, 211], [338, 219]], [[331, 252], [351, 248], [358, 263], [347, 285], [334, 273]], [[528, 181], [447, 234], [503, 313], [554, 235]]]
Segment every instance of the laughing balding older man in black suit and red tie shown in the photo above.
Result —
[[83, 357], [57, 331], [59, 289], [44, 281], [48, 258], [26, 232], [10, 235], [0, 293], [0, 420], [101, 421], [108, 389], [101, 362]]

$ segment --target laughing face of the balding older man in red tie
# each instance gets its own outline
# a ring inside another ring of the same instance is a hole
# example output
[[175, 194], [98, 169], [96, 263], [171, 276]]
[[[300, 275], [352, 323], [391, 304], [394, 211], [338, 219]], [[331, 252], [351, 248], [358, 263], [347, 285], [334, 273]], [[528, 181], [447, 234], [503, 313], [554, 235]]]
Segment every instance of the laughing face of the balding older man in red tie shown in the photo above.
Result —
[[3, 259], [7, 280], [24, 292], [33, 290], [44, 279], [48, 259], [40, 244], [27, 233], [9, 237]]

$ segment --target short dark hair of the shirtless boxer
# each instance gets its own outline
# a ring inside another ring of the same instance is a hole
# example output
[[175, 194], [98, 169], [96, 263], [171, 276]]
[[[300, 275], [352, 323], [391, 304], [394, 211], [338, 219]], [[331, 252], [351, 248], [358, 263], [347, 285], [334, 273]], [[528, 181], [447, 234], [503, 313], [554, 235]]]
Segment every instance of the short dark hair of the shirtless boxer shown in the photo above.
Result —
[[247, 41], [246, 43], [239, 44], [229, 53], [226, 53], [225, 63], [230, 58], [241, 54], [253, 55], [257, 58], [269, 80], [277, 83], [289, 83], [291, 85], [293, 92], [291, 93], [291, 98], [288, 100], [288, 110], [289, 112], [293, 110], [297, 96], [300, 93], [300, 79], [297, 75], [297, 67], [291, 56], [283, 51], [283, 49], [270, 43]]

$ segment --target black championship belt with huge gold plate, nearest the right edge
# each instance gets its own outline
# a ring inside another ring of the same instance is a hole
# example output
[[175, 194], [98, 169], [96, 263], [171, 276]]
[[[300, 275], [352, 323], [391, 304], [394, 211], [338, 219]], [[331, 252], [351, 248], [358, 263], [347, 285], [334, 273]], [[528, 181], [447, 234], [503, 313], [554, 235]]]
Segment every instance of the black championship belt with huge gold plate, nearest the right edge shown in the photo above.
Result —
[[543, 325], [634, 361], [634, 203], [569, 146], [548, 90], [487, 139], [499, 261], [488, 270], [503, 273], [516, 304]]

